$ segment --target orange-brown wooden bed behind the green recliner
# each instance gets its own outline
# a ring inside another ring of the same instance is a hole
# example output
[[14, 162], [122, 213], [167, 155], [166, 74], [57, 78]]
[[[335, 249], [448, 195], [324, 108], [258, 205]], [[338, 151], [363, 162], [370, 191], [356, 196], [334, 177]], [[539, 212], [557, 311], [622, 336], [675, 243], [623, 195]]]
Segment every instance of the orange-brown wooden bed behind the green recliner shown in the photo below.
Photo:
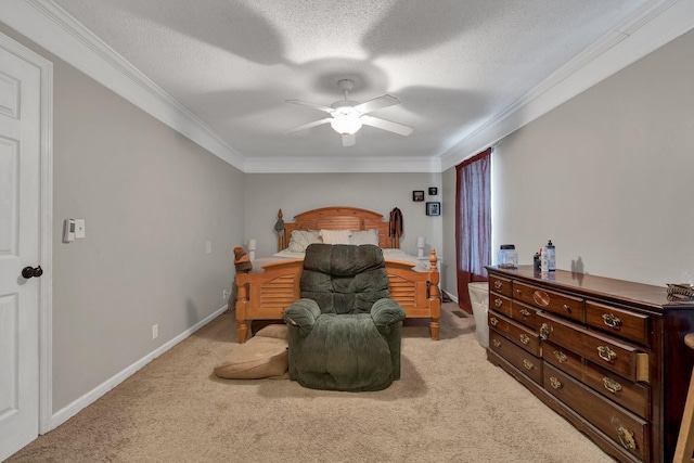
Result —
[[[282, 221], [282, 210], [278, 219]], [[234, 290], [240, 343], [246, 340], [253, 320], [281, 320], [284, 309], [299, 298], [303, 253], [300, 246], [296, 246], [296, 239], [308, 235], [304, 232], [323, 230], [349, 230], [350, 240], [376, 235], [384, 249], [390, 297], [400, 303], [408, 319], [428, 319], [430, 337], [438, 339], [441, 300], [436, 252], [432, 249], [425, 258], [410, 256], [399, 249], [399, 235], [394, 233], [391, 236], [390, 221], [384, 220], [383, 215], [340, 206], [295, 216], [294, 221], [284, 223], [284, 229], [278, 233], [278, 254], [257, 258], [250, 272], [236, 274]]]

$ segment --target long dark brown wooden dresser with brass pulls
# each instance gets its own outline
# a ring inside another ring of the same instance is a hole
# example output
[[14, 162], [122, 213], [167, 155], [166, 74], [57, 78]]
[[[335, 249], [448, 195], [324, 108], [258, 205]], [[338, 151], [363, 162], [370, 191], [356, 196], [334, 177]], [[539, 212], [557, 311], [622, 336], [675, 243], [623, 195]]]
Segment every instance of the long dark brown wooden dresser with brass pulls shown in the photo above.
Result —
[[[694, 301], [660, 286], [488, 267], [487, 358], [620, 461], [670, 462]], [[557, 455], [561, 458], [561, 455]]]

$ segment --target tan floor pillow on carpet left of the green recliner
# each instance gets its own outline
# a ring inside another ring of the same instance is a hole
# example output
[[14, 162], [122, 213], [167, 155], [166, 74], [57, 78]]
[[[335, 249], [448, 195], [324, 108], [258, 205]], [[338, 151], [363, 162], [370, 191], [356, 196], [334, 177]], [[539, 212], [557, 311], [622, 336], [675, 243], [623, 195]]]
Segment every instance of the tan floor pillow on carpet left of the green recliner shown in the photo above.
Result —
[[244, 344], [233, 344], [215, 374], [224, 380], [281, 378], [288, 368], [285, 325], [268, 325]]

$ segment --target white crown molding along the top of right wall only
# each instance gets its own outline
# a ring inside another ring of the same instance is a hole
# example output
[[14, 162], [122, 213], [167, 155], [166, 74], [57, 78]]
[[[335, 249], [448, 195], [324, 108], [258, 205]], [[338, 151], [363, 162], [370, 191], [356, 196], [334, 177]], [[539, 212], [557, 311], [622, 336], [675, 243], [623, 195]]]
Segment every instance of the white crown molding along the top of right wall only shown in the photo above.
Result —
[[444, 153], [447, 170], [694, 27], [694, 2], [650, 3]]

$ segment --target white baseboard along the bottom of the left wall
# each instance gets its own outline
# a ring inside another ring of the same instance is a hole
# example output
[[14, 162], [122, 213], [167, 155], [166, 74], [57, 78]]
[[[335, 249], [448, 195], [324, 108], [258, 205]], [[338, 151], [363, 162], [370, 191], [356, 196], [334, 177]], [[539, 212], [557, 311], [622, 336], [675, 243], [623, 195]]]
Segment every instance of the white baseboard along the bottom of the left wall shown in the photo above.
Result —
[[183, 333], [179, 334], [178, 336], [176, 336], [175, 338], [172, 338], [168, 343], [162, 345], [157, 349], [155, 349], [152, 352], [147, 353], [146, 356], [144, 356], [143, 358], [141, 358], [137, 362], [132, 363], [130, 366], [124, 369], [119, 373], [116, 373], [115, 375], [113, 375], [112, 377], [110, 377], [108, 380], [106, 380], [105, 382], [103, 382], [102, 384], [100, 384], [99, 386], [97, 386], [95, 388], [90, 390], [89, 393], [85, 394], [79, 399], [75, 400], [74, 402], [69, 403], [65, 408], [63, 408], [60, 411], [57, 411], [56, 413], [54, 413], [50, 419], [49, 428], [46, 429], [46, 432], [48, 433], [49, 430], [55, 429], [61, 424], [65, 423], [70, 417], [75, 416], [82, 409], [85, 409], [86, 407], [88, 407], [91, 403], [93, 403], [94, 401], [97, 401], [97, 399], [102, 397], [104, 394], [108, 393], [111, 389], [113, 389], [114, 387], [116, 387], [117, 385], [119, 385], [120, 383], [126, 381], [128, 377], [132, 376], [142, 366], [146, 365], [152, 360], [156, 359], [162, 353], [166, 352], [171, 347], [176, 346], [178, 343], [180, 343], [181, 340], [185, 339], [188, 336], [190, 336], [191, 334], [195, 333], [201, 327], [205, 326], [207, 323], [209, 323], [215, 318], [217, 318], [218, 316], [223, 313], [226, 310], [227, 310], [227, 306], [222, 307], [221, 309], [216, 310], [210, 316], [208, 316], [205, 319], [201, 320], [200, 322], [197, 322], [192, 327], [185, 330]]

